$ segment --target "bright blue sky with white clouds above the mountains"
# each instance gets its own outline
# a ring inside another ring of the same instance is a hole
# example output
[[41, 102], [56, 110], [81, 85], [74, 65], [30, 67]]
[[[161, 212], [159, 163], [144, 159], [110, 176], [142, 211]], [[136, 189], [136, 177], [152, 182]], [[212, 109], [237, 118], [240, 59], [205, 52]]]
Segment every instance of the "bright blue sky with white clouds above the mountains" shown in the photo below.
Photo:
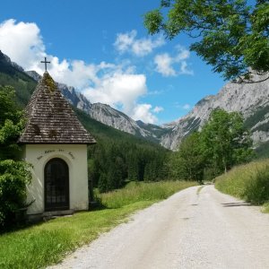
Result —
[[220, 74], [189, 51], [193, 41], [150, 36], [143, 13], [159, 0], [3, 0], [0, 49], [39, 74], [44, 56], [57, 82], [134, 119], [163, 124], [220, 91]]

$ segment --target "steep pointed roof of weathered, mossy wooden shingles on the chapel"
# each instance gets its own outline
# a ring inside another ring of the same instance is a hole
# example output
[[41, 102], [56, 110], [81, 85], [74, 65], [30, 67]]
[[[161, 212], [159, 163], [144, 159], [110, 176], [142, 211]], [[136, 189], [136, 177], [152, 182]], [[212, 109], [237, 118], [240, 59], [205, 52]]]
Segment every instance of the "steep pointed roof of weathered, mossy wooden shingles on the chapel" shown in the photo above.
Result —
[[26, 107], [19, 143], [96, 143], [46, 71]]

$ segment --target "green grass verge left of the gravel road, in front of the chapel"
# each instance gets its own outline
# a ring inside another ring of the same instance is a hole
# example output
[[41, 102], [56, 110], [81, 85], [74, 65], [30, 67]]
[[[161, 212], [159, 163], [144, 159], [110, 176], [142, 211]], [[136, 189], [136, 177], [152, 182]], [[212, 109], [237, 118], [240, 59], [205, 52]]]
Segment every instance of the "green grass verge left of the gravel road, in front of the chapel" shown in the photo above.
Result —
[[132, 183], [100, 195], [106, 209], [75, 213], [5, 233], [0, 236], [0, 268], [44, 268], [56, 264], [75, 248], [126, 221], [131, 213], [191, 186], [195, 183]]

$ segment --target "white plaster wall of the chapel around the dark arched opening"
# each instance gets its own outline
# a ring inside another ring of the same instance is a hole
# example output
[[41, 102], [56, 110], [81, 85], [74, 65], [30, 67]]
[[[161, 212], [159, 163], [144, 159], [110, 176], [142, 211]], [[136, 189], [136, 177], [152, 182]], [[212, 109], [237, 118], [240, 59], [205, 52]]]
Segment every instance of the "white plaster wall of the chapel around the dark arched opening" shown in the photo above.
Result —
[[44, 213], [44, 169], [50, 159], [61, 158], [69, 168], [70, 209], [87, 210], [88, 169], [86, 144], [27, 144], [24, 147], [25, 161], [33, 165], [32, 182], [28, 186], [27, 202], [35, 200], [28, 214]]

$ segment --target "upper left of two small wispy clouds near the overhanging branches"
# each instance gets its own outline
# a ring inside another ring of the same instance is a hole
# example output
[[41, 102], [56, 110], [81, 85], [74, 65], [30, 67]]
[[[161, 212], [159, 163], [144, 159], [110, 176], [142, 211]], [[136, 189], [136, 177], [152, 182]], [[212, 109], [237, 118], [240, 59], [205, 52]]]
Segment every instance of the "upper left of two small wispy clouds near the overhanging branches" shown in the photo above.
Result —
[[145, 56], [152, 52], [154, 48], [161, 47], [165, 40], [159, 36], [156, 39], [136, 39], [137, 31], [131, 30], [126, 33], [118, 33], [114, 43], [115, 48], [120, 53], [131, 52], [135, 56]]

